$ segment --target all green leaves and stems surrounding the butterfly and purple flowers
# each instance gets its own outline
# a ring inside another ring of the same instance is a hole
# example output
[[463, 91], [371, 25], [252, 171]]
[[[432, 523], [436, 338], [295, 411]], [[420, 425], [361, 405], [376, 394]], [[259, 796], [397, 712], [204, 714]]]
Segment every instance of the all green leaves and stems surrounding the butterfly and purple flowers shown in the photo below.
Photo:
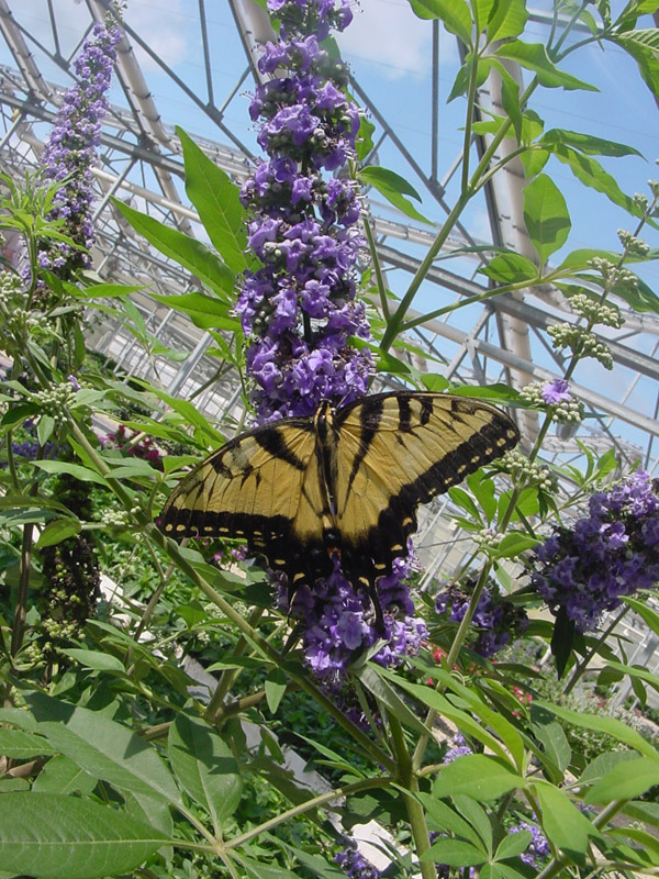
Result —
[[[450, 387], [442, 365], [434, 367], [436, 375], [415, 368], [411, 359], [418, 347], [402, 333], [462, 304], [551, 282], [567, 296], [588, 291], [593, 300], [616, 297], [638, 312], [659, 312], [655, 292], [627, 268], [656, 252], [581, 248], [561, 253], [560, 264], [550, 265], [571, 233], [566, 200], [552, 178], [557, 163], [626, 210], [636, 227], [655, 222], [657, 198], [645, 204], [630, 199], [599, 158], [639, 154], [588, 133], [545, 131], [529, 105], [536, 89], [593, 90], [567, 69], [580, 43], [622, 48], [657, 93], [659, 43], [655, 31], [638, 26], [657, 3], [632, 0], [615, 21], [606, 0], [588, 8], [569, 4], [561, 7], [572, 16], [569, 24], [557, 5], [547, 43], [526, 38], [523, 0], [411, 0], [411, 7], [422, 19], [439, 20], [466, 47], [450, 94], [467, 97], [459, 192], [402, 294], [387, 289], [375, 254], [364, 288], [379, 296], [382, 313], [372, 310], [376, 341], [355, 340], [355, 345], [371, 347], [379, 371], [439, 391]], [[579, 38], [574, 24], [587, 29]], [[504, 62], [524, 68], [525, 88]], [[493, 70], [502, 76], [501, 114], [474, 122], [474, 90]], [[372, 152], [373, 132], [362, 123], [360, 160]], [[489, 136], [476, 165], [473, 134]], [[230, 178], [185, 132], [178, 135], [186, 190], [212, 246], [115, 204], [202, 287], [153, 299], [211, 334], [210, 353], [221, 369], [241, 370], [235, 286], [239, 272], [254, 265], [246, 253], [245, 212]], [[513, 145], [510, 159], [507, 153], [498, 158], [503, 141]], [[436, 260], [460, 255], [439, 256], [448, 236], [512, 158], [521, 159], [528, 178], [524, 216], [537, 260], [503, 247], [476, 248], [491, 289], [411, 316]], [[412, 204], [421, 199], [406, 179], [370, 166], [359, 175], [406, 216], [427, 222]], [[31, 270], [26, 281], [4, 271], [0, 285], [2, 347], [10, 358], [0, 393], [3, 875], [337, 879], [343, 874], [332, 856], [345, 845], [336, 841], [330, 816], [346, 830], [367, 817], [388, 824], [396, 842], [414, 852], [412, 858], [391, 847], [395, 863], [389, 872], [399, 877], [421, 870], [429, 879], [435, 865], [456, 876], [477, 867], [481, 879], [528, 877], [536, 868], [522, 856], [532, 834], [510, 832], [521, 820], [536, 823], [548, 841], [550, 854], [537, 867], [544, 876], [592, 876], [603, 863], [627, 875], [656, 869], [659, 810], [650, 800], [659, 785], [657, 741], [644, 735], [628, 712], [599, 701], [588, 672], [596, 665], [600, 687], [628, 680], [644, 705], [649, 690], [659, 691], [657, 675], [628, 663], [611, 644], [577, 635], [567, 614], [533, 620], [532, 656], [494, 664], [465, 647], [472, 643], [471, 614], [490, 578], [515, 607], [537, 611], [538, 597], [518, 571], [543, 535], [569, 521], [589, 492], [617, 472], [613, 450], [597, 457], [580, 443], [579, 460], [550, 474], [561, 478], [558, 490], [540, 488], [545, 477], [522, 472], [523, 467], [511, 479], [515, 471], [505, 461], [453, 488], [456, 521], [481, 545], [469, 569], [456, 575], [474, 585], [465, 624], [436, 626], [443, 664], [422, 652], [395, 670], [383, 669], [369, 661], [376, 645], [354, 657], [347, 683], [328, 696], [303, 663], [299, 631], [273, 607], [256, 567], [234, 563], [228, 545], [178, 547], [154, 524], [185, 469], [236, 425], [209, 421], [193, 402], [157, 382], [116, 376], [86, 352], [83, 309], [90, 309], [120, 318], [152, 360], [187, 356], [149, 332], [131, 299], [148, 288], [42, 270], [40, 242], [71, 243], [63, 223], [47, 219], [54, 188], [34, 179], [2, 181], [0, 227], [23, 236]], [[597, 268], [602, 263], [618, 275]], [[35, 296], [41, 285], [47, 291], [42, 298]], [[584, 323], [588, 332], [594, 326], [590, 319]], [[574, 353], [567, 361], [567, 377], [578, 359]], [[530, 405], [500, 385], [450, 391]], [[532, 408], [543, 419], [541, 441], [556, 413]], [[121, 422], [122, 438], [101, 443], [98, 419]], [[157, 448], [155, 458], [134, 454], [143, 434], [149, 448]], [[20, 444], [31, 454], [19, 454]], [[539, 443], [534, 445], [529, 466], [540, 452]], [[488, 542], [489, 530], [498, 539]], [[82, 593], [59, 589], [74, 571], [64, 564], [66, 553], [83, 545], [97, 569], [120, 585], [113, 598], [98, 600], [91, 574], [81, 578]], [[627, 602], [659, 633], [659, 616], [647, 599]], [[418, 604], [429, 617], [429, 593]], [[72, 605], [85, 609], [81, 621], [71, 615]], [[549, 645], [558, 669], [536, 665]], [[193, 660], [217, 676], [213, 694], [192, 679]], [[437, 743], [439, 723], [444, 738]], [[470, 752], [453, 761], [446, 758], [446, 724]], [[327, 792], [311, 790], [293, 775], [291, 746], [325, 774]], [[622, 817], [614, 825], [616, 812]], [[438, 834], [432, 844], [428, 831]]]

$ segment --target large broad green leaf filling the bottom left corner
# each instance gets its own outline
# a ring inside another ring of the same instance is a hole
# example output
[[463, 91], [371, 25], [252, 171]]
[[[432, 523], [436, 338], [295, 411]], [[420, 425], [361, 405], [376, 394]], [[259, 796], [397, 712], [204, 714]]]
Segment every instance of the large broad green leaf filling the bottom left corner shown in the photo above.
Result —
[[167, 839], [123, 812], [57, 793], [0, 797], [2, 868], [40, 879], [132, 871]]

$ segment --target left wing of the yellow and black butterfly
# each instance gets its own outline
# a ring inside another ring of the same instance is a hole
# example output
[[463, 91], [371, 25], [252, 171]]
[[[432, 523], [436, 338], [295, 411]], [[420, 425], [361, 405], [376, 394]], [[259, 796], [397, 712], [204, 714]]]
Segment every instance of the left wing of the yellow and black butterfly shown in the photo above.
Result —
[[160, 528], [181, 537], [236, 537], [298, 588], [332, 570], [323, 546], [328, 501], [312, 419], [286, 419], [214, 452], [168, 498]]

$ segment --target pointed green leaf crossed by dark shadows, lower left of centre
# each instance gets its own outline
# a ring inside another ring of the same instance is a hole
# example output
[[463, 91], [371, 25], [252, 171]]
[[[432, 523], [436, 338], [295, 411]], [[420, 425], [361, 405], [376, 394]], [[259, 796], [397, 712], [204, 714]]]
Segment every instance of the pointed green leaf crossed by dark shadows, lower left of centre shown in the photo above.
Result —
[[167, 753], [178, 780], [219, 832], [237, 809], [243, 790], [231, 748], [208, 723], [181, 712], [169, 727]]

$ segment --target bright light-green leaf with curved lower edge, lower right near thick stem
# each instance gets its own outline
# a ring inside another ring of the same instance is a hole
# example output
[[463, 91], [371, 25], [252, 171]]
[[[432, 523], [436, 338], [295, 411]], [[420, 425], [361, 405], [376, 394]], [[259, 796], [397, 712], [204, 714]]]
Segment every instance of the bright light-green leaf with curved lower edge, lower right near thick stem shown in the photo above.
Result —
[[495, 800], [524, 786], [524, 779], [496, 757], [467, 754], [443, 767], [433, 785], [433, 795], [454, 797], [456, 793], [465, 793], [480, 802]]

